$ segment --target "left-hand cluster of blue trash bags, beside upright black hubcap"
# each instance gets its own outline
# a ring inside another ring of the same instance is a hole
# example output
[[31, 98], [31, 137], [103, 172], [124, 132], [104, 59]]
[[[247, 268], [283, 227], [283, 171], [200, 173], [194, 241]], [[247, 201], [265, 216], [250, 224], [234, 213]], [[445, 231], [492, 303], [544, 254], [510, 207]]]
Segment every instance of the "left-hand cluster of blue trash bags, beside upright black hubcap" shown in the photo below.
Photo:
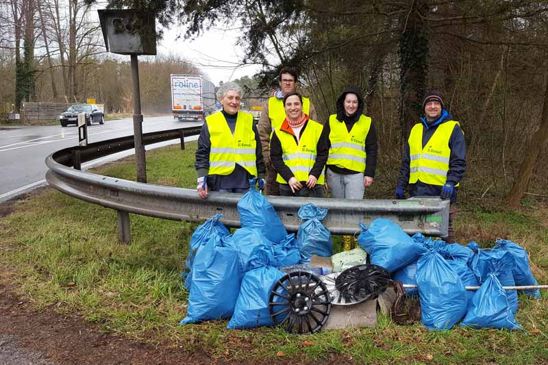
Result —
[[230, 318], [231, 329], [273, 325], [269, 295], [285, 275], [280, 269], [306, 264], [312, 255], [333, 255], [331, 234], [321, 223], [327, 210], [303, 205], [295, 237], [254, 182], [238, 202], [241, 228], [230, 234], [216, 214], [192, 234], [182, 273], [189, 292], [182, 325], [219, 318]]

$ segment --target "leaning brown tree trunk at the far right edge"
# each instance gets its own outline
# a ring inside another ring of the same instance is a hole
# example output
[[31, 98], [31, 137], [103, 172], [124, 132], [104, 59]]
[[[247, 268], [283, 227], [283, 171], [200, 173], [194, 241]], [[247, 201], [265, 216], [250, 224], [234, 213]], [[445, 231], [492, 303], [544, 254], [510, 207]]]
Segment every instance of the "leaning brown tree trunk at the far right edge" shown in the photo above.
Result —
[[523, 193], [527, 190], [531, 176], [533, 175], [536, 162], [538, 160], [538, 155], [543, 148], [543, 144], [548, 142], [548, 81], [546, 83], [546, 90], [544, 92], [544, 102], [543, 102], [543, 115], [540, 120], [540, 126], [535, 131], [533, 136], [531, 136], [529, 146], [525, 151], [525, 156], [521, 167], [519, 168], [519, 174], [514, 181], [514, 186], [508, 194], [508, 205], [510, 207], [518, 207], [523, 197]]

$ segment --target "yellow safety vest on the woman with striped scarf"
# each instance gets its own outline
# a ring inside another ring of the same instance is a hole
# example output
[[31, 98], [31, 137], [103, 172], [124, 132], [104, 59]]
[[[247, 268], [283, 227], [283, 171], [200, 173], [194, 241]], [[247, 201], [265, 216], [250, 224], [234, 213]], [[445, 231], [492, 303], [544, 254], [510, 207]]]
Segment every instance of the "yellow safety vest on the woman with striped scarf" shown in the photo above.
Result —
[[[279, 143], [282, 145], [282, 158], [284, 159], [284, 164], [290, 168], [291, 172], [295, 178], [299, 181], [308, 181], [308, 175], [310, 175], [310, 170], [316, 162], [316, 155], [318, 141], [321, 136], [321, 131], [323, 126], [320, 123], [308, 120], [306, 127], [299, 139], [299, 144], [295, 142], [295, 137], [286, 132], [282, 131], [278, 127], [275, 131], [276, 136], [279, 139]], [[321, 172], [318, 181], [316, 184], [323, 185], [323, 169]], [[287, 181], [284, 180], [282, 175], [277, 175], [276, 181], [282, 184], [287, 184]]]

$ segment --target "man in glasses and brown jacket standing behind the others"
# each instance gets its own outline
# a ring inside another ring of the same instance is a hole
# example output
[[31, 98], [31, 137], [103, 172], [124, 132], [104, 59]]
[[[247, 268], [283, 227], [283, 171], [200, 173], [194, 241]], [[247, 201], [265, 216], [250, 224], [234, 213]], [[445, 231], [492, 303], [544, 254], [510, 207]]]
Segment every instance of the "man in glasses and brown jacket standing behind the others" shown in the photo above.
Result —
[[[262, 107], [261, 117], [257, 125], [262, 144], [262, 156], [266, 165], [266, 194], [279, 195], [279, 184], [276, 181], [277, 171], [270, 160], [270, 138], [272, 131], [282, 125], [286, 118], [284, 95], [294, 92], [297, 87], [297, 71], [284, 67], [279, 71], [279, 88], [273, 92]], [[316, 110], [310, 99], [303, 97], [303, 113], [313, 121], [317, 120]], [[323, 124], [323, 123], [322, 123]]]

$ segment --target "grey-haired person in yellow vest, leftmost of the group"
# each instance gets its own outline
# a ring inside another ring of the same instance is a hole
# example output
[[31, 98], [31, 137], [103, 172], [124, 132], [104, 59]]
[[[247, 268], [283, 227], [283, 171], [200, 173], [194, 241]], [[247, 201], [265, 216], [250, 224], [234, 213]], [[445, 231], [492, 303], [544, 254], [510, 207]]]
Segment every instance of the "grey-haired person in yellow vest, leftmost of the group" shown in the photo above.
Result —
[[253, 116], [240, 111], [242, 96], [238, 84], [223, 84], [217, 92], [223, 109], [207, 116], [201, 127], [195, 168], [202, 198], [208, 191], [247, 192], [251, 177], [259, 177], [259, 188], [264, 187], [261, 142]]

